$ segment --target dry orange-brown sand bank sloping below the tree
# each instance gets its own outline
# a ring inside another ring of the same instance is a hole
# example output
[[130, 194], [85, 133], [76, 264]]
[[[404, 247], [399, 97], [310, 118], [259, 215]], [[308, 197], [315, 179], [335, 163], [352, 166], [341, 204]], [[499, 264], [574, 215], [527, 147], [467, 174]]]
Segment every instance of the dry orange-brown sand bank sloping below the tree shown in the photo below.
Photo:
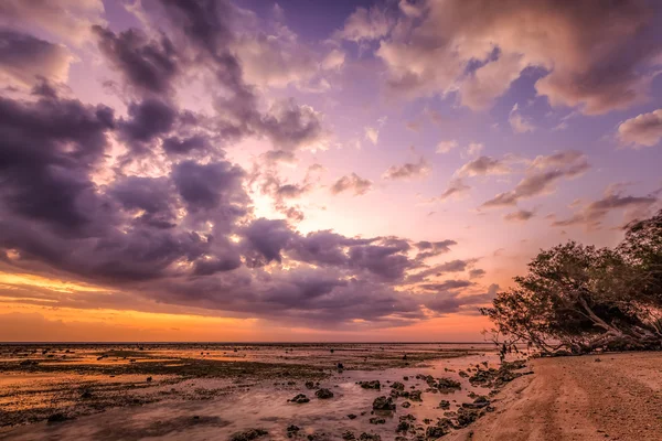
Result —
[[[600, 363], [596, 363], [600, 358]], [[662, 354], [544, 358], [455, 441], [662, 440]]]

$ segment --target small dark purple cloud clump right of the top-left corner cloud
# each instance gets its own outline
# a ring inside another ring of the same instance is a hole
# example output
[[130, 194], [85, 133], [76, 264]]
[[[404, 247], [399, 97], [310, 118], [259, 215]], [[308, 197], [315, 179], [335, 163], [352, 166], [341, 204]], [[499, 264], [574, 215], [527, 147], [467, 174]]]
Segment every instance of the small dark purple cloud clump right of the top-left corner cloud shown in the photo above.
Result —
[[125, 80], [140, 92], [169, 94], [179, 73], [179, 60], [172, 42], [161, 36], [150, 41], [141, 31], [129, 29], [116, 35], [95, 25], [99, 50]]

